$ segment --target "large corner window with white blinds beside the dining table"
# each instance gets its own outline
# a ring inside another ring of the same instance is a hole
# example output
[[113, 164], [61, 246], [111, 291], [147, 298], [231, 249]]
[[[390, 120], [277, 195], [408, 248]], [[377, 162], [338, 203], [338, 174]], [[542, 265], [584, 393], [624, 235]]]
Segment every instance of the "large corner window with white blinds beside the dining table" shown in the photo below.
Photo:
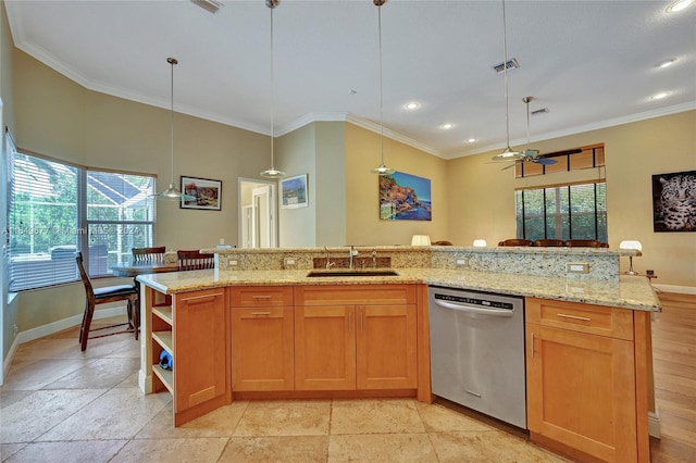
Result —
[[111, 274], [130, 248], [152, 245], [154, 177], [84, 168], [13, 151], [9, 183], [10, 290]]

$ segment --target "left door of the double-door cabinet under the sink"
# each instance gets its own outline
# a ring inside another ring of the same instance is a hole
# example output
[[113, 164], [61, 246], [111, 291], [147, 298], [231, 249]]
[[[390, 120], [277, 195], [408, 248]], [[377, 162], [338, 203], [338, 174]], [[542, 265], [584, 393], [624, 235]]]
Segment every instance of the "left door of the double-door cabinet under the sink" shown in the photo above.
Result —
[[356, 388], [352, 305], [295, 308], [295, 389]]

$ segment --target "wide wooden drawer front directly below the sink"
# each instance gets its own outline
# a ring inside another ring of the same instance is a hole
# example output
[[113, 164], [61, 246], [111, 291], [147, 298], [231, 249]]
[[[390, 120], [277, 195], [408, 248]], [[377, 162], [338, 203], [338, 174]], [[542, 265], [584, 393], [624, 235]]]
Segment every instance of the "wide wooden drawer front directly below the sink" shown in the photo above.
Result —
[[318, 285], [295, 288], [295, 305], [414, 303], [415, 285]]

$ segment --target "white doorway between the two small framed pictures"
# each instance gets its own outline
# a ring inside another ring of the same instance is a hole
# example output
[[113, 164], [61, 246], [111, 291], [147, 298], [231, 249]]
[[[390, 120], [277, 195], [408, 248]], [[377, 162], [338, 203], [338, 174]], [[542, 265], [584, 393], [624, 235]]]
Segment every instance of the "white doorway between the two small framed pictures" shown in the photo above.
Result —
[[276, 248], [276, 184], [239, 178], [239, 248]]

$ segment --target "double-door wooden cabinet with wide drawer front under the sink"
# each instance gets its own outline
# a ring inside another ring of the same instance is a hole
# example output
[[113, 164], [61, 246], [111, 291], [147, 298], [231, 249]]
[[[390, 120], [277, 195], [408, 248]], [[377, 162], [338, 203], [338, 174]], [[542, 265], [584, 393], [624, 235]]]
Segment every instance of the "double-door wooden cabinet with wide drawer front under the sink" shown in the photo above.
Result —
[[414, 389], [415, 287], [295, 289], [297, 390]]

